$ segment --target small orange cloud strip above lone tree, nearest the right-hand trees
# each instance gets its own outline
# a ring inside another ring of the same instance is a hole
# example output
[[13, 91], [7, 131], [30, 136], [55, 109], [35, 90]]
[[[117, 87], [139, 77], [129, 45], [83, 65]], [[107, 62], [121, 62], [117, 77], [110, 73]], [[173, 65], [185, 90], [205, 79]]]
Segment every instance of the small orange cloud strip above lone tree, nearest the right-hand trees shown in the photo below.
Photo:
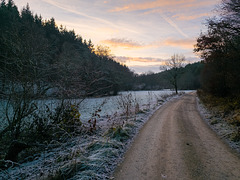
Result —
[[179, 47], [182, 49], [193, 49], [194, 44], [196, 44], [196, 41], [194, 39], [166, 39], [163, 41], [163, 45], [165, 46], [173, 46], [173, 47]]

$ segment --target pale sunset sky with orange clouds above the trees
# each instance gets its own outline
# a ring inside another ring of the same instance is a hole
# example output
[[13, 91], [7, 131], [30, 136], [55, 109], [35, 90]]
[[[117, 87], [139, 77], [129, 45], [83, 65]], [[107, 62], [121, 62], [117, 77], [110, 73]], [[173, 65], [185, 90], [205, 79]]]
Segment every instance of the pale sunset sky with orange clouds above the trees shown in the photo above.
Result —
[[29, 3], [43, 19], [54, 17], [58, 26], [109, 47], [116, 61], [139, 74], [159, 72], [174, 54], [199, 61], [194, 44], [219, 1], [14, 0], [19, 10]]

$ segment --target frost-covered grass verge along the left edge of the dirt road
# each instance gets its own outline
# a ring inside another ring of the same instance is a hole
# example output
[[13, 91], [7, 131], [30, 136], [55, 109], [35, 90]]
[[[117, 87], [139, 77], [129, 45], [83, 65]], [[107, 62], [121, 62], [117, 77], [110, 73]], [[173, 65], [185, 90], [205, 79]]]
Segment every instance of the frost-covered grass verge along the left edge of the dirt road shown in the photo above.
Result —
[[[0, 169], [0, 179], [1, 177], [5, 179], [8, 177], [32, 179], [34, 177], [45, 180], [109, 179], [127, 145], [153, 112], [155, 103], [160, 105], [167, 101], [169, 96], [163, 98], [159, 96], [156, 100], [149, 98], [153, 101], [151, 109], [148, 109], [147, 105], [139, 104], [134, 96], [127, 95], [127, 98], [122, 96], [121, 101], [119, 100], [122, 113], [118, 112], [109, 118], [105, 117], [106, 124], [101, 127], [98, 125], [99, 122], [94, 121], [100, 116], [98, 109], [92, 117], [93, 121], [82, 123], [75, 106], [70, 106], [69, 113], [63, 114], [61, 121], [56, 123], [61, 131], [54, 131], [56, 128], [49, 131], [46, 127], [50, 135], [54, 133], [53, 138], [49, 138], [45, 144], [42, 143], [42, 148], [33, 147], [21, 152], [19, 158], [24, 160], [27, 157], [26, 161], [18, 167]], [[50, 115], [52, 117], [52, 114]], [[78, 124], [72, 121], [74, 118], [77, 119]], [[69, 124], [73, 126], [68, 126]], [[81, 128], [76, 129], [78, 125]], [[78, 133], [75, 133], [76, 130]], [[61, 140], [58, 136], [64, 139]], [[31, 138], [34, 138], [33, 133]], [[32, 157], [31, 160], [29, 156]], [[1, 153], [0, 157], [4, 158]]]

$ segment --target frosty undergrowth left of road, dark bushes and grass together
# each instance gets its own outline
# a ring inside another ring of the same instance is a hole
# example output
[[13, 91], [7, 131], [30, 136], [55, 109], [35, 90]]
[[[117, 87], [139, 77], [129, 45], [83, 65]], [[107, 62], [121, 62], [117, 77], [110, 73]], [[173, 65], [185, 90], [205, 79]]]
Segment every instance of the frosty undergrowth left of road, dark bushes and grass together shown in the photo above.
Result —
[[[26, 134], [22, 137], [29, 138], [22, 141], [30, 146], [18, 154], [18, 160], [4, 160], [7, 152], [1, 154], [0, 179], [111, 178], [113, 168], [138, 128], [154, 108], [172, 95], [154, 98], [149, 93], [148, 96], [147, 104], [140, 104], [131, 93], [121, 95], [117, 99], [120, 111], [101, 117], [104, 102], [86, 122], [81, 121], [75, 104], [57, 107], [55, 111], [46, 108], [44, 113], [36, 114], [34, 123], [23, 131]], [[104, 126], [100, 126], [100, 119]]]

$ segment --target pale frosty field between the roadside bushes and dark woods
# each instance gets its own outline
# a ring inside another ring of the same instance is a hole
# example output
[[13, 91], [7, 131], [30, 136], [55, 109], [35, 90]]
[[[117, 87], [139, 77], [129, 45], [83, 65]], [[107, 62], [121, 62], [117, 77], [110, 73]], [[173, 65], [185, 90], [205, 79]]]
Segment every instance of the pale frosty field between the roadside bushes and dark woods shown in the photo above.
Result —
[[[172, 91], [170, 90], [162, 90], [162, 91], [125, 91], [120, 92], [118, 96], [108, 96], [108, 97], [101, 97], [101, 98], [86, 98], [82, 99], [72, 99], [73, 103], [80, 103], [79, 105], [79, 112], [81, 113], [81, 120], [87, 121], [91, 118], [92, 113], [96, 109], [101, 106], [101, 116], [112, 115], [116, 112], [120, 112], [121, 108], [119, 107], [118, 99], [121, 95], [131, 94], [132, 98], [136, 99], [139, 105], [146, 106], [151, 101], [154, 101], [156, 97], [160, 97], [162, 95], [171, 94]], [[60, 100], [56, 99], [49, 99], [49, 100], [38, 100], [35, 102], [39, 108], [44, 108], [45, 105], [48, 105], [50, 109], [54, 109]], [[152, 103], [152, 102], [151, 102]], [[6, 118], [6, 101], [0, 101], [0, 121], [1, 126], [0, 129], [4, 127]], [[103, 105], [102, 105], [103, 104]], [[8, 116], [11, 116], [12, 109], [7, 110]]]

